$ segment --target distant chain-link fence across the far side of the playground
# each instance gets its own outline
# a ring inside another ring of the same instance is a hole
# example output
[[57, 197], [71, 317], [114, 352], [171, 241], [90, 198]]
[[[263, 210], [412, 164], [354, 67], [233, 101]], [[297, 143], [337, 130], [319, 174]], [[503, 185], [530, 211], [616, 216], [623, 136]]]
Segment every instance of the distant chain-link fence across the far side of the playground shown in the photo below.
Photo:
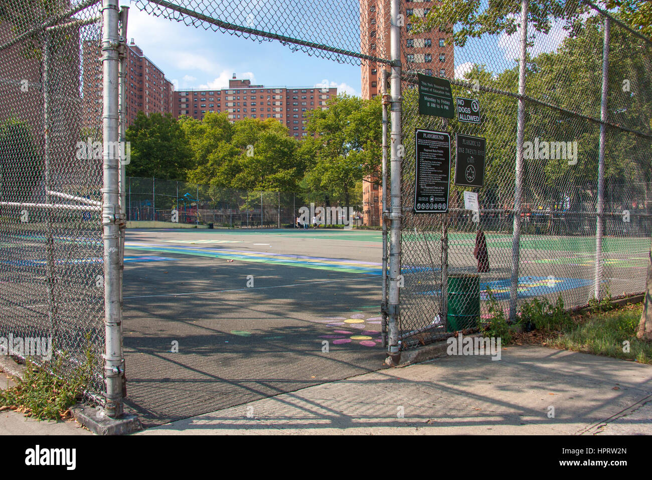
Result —
[[[297, 217], [302, 216], [301, 208], [314, 212], [320, 206], [346, 206], [353, 210], [354, 226], [363, 221], [362, 204], [346, 204], [326, 192], [246, 191], [156, 178], [128, 177], [126, 204], [130, 221], [174, 221], [214, 228], [294, 228]], [[308, 217], [312, 223], [312, 214]], [[343, 227], [343, 220], [331, 216], [328, 225]]]

